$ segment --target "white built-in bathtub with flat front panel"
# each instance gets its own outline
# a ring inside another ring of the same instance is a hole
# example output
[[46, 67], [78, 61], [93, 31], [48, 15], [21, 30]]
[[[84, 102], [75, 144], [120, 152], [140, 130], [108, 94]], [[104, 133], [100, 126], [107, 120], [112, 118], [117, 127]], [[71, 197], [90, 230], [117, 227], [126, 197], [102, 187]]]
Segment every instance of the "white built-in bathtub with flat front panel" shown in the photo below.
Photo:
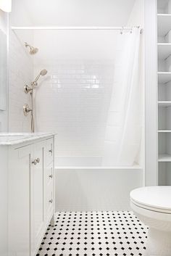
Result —
[[130, 210], [129, 193], [143, 186], [138, 166], [101, 166], [101, 157], [57, 157], [56, 210]]

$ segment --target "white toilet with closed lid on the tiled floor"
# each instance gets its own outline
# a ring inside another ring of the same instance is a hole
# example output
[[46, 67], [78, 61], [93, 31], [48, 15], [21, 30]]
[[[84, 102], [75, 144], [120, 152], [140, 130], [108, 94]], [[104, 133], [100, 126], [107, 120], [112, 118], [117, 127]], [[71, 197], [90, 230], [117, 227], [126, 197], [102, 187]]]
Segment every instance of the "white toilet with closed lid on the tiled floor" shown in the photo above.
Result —
[[171, 186], [146, 186], [130, 192], [135, 215], [149, 226], [148, 256], [171, 256]]

